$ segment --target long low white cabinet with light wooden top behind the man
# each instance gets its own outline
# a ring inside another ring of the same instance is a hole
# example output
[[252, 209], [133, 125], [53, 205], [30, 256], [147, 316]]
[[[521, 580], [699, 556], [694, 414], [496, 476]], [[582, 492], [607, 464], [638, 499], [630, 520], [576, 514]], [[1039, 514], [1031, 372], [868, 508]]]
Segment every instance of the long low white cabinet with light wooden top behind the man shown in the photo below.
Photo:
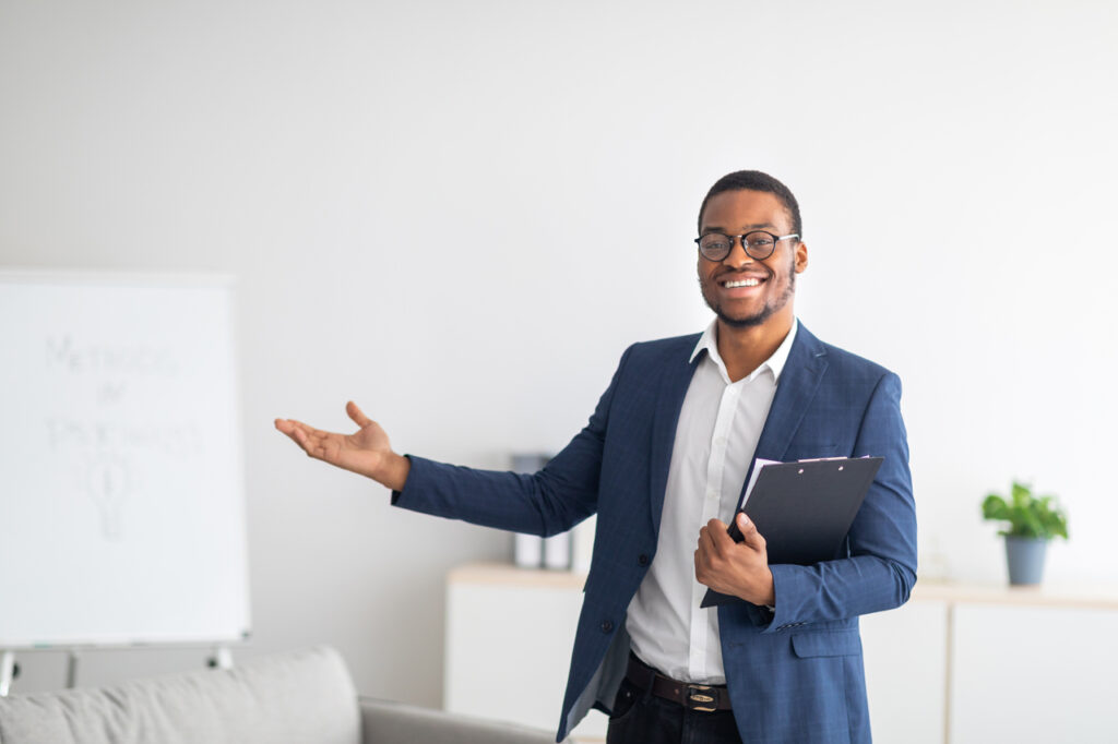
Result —
[[[585, 574], [462, 566], [447, 578], [445, 706], [555, 732]], [[918, 582], [862, 618], [874, 741], [1118, 742], [1118, 589]], [[591, 710], [574, 732], [605, 738]]]

